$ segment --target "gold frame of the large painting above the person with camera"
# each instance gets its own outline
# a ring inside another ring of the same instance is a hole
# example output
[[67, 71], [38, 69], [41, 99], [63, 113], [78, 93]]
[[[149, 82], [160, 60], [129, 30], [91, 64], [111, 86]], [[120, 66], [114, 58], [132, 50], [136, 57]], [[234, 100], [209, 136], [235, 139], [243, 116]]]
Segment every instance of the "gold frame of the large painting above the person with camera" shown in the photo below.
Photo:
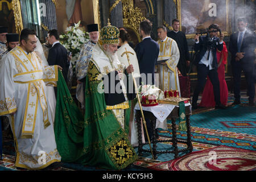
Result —
[[[177, 19], [180, 20], [180, 31], [181, 31], [181, 0], [177, 0]], [[222, 31], [222, 33], [224, 33], [225, 36], [230, 36], [230, 32], [231, 32], [231, 26], [230, 26], [230, 22], [229, 22], [229, 0], [226, 0], [226, 30]], [[187, 34], [186, 37], [187, 39], [192, 39], [195, 37], [196, 34]]]

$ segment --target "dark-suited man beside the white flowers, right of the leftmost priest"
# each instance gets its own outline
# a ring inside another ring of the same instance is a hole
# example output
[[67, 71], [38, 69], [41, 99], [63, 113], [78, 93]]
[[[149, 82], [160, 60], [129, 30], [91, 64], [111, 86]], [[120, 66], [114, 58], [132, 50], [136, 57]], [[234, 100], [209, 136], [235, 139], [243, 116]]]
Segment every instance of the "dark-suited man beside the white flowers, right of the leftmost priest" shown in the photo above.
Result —
[[[63, 47], [59, 42], [59, 33], [57, 30], [49, 30], [48, 31], [48, 41], [52, 44], [52, 47], [49, 49], [48, 53], [48, 64], [49, 65], [60, 65], [62, 68], [62, 73], [65, 81], [68, 83], [68, 68], [69, 68], [69, 61], [68, 61], [68, 53], [67, 49]], [[55, 96], [57, 96], [57, 89], [55, 90]]]

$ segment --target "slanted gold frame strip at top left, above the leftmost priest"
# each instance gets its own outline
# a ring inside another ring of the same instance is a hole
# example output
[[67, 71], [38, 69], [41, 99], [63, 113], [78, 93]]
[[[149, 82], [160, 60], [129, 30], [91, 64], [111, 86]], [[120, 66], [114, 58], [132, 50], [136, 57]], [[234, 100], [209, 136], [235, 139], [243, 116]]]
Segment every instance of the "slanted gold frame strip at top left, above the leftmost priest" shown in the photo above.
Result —
[[11, 1], [11, 4], [13, 6], [12, 8], [13, 8], [13, 13], [14, 13], [16, 33], [20, 34], [20, 32], [23, 30], [20, 2], [19, 2], [19, 0], [13, 0], [13, 1]]

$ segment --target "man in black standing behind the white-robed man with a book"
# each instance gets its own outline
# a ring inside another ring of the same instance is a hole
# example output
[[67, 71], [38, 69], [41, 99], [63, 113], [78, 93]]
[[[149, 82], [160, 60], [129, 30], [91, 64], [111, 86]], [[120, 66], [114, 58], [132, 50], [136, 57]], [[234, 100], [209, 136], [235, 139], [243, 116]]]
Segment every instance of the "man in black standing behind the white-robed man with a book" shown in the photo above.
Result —
[[172, 28], [174, 30], [167, 33], [169, 38], [176, 41], [180, 52], [179, 63], [177, 68], [179, 69], [182, 76], [187, 76], [188, 66], [189, 66], [189, 53], [188, 53], [188, 43], [184, 32], [179, 31], [180, 22], [178, 19], [172, 20]]

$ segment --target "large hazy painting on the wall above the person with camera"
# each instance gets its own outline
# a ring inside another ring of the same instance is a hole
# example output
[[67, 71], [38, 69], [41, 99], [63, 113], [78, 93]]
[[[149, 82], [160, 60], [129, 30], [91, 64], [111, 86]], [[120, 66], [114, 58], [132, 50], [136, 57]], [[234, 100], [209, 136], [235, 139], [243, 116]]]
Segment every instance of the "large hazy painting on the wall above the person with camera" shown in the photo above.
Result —
[[187, 38], [193, 38], [196, 33], [205, 32], [210, 24], [217, 23], [224, 35], [228, 35], [228, 5], [229, 0], [179, 0], [177, 14], [181, 31]]

